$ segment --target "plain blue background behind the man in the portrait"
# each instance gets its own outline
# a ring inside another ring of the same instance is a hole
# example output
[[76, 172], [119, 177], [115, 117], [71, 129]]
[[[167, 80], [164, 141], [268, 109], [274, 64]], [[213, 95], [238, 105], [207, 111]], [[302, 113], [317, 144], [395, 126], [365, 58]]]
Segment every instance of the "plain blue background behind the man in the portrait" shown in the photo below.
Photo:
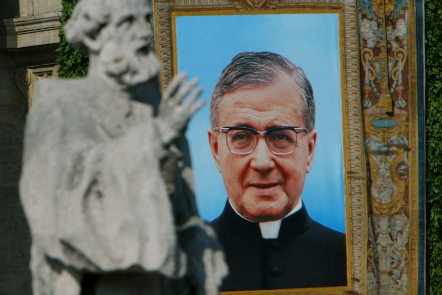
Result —
[[272, 51], [302, 67], [313, 86], [318, 137], [302, 198], [314, 220], [345, 232], [338, 14], [177, 16], [175, 21], [178, 72], [199, 77], [205, 90], [206, 105], [187, 131], [200, 215], [213, 220], [227, 200], [207, 139], [213, 87], [236, 54]]

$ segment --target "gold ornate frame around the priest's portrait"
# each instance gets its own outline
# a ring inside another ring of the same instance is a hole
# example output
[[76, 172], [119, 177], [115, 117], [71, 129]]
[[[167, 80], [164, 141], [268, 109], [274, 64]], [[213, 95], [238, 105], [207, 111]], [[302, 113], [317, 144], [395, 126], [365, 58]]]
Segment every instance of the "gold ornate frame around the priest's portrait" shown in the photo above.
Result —
[[[347, 277], [343, 287], [223, 292], [240, 294], [361, 294], [366, 282], [367, 208], [363, 110], [360, 101], [359, 36], [356, 0], [154, 0], [155, 49], [160, 85], [176, 73], [176, 15], [337, 12], [340, 21], [344, 161], [347, 226]], [[318, 278], [320, 280], [320, 278]]]

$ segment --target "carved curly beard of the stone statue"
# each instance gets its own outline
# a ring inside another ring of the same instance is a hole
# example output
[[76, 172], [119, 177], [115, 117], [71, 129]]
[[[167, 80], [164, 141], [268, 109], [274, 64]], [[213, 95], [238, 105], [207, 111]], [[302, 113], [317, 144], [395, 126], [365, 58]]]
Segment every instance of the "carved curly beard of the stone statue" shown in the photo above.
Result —
[[99, 60], [107, 75], [125, 88], [144, 84], [159, 71], [155, 52], [148, 43], [132, 42], [116, 45], [108, 42], [99, 54]]

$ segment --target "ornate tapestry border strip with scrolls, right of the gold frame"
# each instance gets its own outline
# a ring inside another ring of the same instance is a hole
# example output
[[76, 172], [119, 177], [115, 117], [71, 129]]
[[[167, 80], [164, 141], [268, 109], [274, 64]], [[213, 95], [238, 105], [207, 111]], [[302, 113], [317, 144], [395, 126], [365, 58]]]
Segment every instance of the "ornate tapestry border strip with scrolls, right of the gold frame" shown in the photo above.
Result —
[[407, 0], [360, 0], [361, 88], [370, 173], [368, 294], [408, 294]]

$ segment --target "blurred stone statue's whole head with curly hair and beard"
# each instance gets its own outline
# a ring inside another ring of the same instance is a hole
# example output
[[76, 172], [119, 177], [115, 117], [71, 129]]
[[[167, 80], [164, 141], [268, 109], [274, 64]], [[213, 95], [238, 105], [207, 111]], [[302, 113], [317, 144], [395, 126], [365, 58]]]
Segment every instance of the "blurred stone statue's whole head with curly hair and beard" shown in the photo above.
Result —
[[152, 10], [145, 0], [81, 0], [64, 29], [77, 50], [89, 54], [89, 70], [127, 88], [146, 83], [159, 64], [150, 46]]

